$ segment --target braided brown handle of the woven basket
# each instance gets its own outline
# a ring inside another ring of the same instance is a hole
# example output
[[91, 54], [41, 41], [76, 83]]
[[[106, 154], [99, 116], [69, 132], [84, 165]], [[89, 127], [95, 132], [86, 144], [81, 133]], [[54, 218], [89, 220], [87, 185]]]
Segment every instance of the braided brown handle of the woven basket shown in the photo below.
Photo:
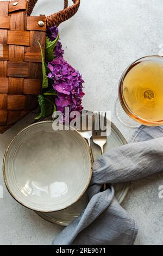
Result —
[[[74, 14], [77, 13], [80, 5], [80, 0], [72, 1], [73, 5], [68, 7], [68, 0], [64, 0], [64, 10], [58, 11], [58, 13], [54, 13], [46, 17], [47, 28], [51, 28], [53, 26], [58, 27], [61, 22], [70, 19]], [[28, 0], [28, 15], [32, 13], [36, 3], [37, 0]]]

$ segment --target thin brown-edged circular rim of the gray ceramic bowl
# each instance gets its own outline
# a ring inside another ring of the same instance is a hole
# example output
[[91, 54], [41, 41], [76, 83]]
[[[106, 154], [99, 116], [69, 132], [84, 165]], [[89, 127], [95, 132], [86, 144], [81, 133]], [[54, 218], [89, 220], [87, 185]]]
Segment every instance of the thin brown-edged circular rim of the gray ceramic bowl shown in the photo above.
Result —
[[88, 188], [88, 186], [89, 186], [89, 184], [90, 184], [90, 182], [91, 182], [91, 178], [92, 178], [92, 169], [93, 169], [93, 161], [92, 161], [92, 156], [91, 156], [91, 150], [90, 150], [89, 145], [87, 144], [86, 140], [83, 138], [82, 135], [80, 135], [80, 133], [79, 133], [76, 129], [74, 129], [73, 127], [71, 127], [72, 130], [74, 130], [75, 132], [78, 133], [79, 137], [82, 139], [83, 143], [86, 145], [86, 148], [88, 149], [88, 153], [89, 153], [89, 159], [90, 159], [90, 161], [89, 161], [89, 162], [90, 162], [89, 179], [88, 179], [88, 181], [87, 181], [87, 184], [85, 185], [85, 188], [84, 188], [83, 192], [80, 194], [80, 196], [79, 196], [76, 200], [74, 200], [73, 203], [68, 204], [68, 205], [66, 205], [64, 208], [61, 208], [61, 209], [58, 209], [58, 210], [55, 210], [55, 209], [54, 209], [54, 210], [35, 209], [35, 208], [33, 208], [33, 207], [27, 206], [26, 203], [21, 202], [21, 200], [18, 199], [18, 198], [14, 195], [14, 193], [11, 191], [10, 186], [9, 186], [9, 184], [8, 184], [8, 181], [7, 181], [7, 176], [6, 176], [6, 174], [5, 174], [5, 163], [6, 163], [8, 151], [9, 151], [11, 145], [16, 141], [17, 137], [18, 137], [22, 132], [26, 131], [29, 127], [32, 127], [32, 126], [35, 126], [35, 125], [39, 125], [39, 124], [44, 124], [44, 123], [51, 123], [51, 124], [52, 124], [53, 121], [51, 121], [51, 120], [46, 120], [46, 121], [40, 121], [40, 122], [31, 124], [31, 125], [28, 125], [28, 126], [24, 127], [20, 132], [18, 132], [18, 133], [16, 134], [16, 136], [14, 136], [14, 138], [12, 138], [11, 142], [10, 142], [9, 145], [7, 146], [7, 149], [5, 150], [5, 153], [4, 153], [2, 170], [3, 170], [3, 179], [4, 179], [5, 186], [7, 187], [7, 190], [8, 190], [8, 192], [10, 193], [10, 195], [11, 195], [12, 198], [14, 198], [19, 204], [23, 205], [23, 206], [26, 207], [27, 209], [34, 210], [34, 211], [36, 211], [36, 212], [45, 212], [45, 213], [46, 213], [46, 212], [55, 212], [55, 211], [64, 210], [64, 209], [70, 207], [71, 205], [73, 205], [74, 203], [76, 203], [76, 202], [83, 196], [83, 194], [86, 192], [86, 190], [87, 190], [87, 188]]

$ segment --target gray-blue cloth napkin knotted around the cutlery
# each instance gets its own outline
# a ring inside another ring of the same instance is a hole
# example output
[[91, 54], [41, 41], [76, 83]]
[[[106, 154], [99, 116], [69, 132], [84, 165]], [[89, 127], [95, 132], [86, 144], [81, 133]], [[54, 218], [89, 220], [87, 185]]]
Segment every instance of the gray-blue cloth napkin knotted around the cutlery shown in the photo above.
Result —
[[110, 150], [93, 163], [89, 204], [53, 245], [133, 245], [138, 230], [134, 218], [118, 204], [111, 185], [103, 192], [101, 187], [162, 171], [162, 135], [162, 127], [140, 126], [133, 139], [136, 143]]

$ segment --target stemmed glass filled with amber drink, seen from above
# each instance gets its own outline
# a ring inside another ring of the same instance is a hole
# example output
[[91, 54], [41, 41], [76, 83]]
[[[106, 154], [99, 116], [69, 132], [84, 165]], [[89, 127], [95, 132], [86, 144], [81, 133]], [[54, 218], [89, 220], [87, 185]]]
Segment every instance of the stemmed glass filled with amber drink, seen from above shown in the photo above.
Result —
[[132, 63], [121, 76], [118, 96], [133, 120], [148, 126], [163, 125], [163, 57], [147, 56]]

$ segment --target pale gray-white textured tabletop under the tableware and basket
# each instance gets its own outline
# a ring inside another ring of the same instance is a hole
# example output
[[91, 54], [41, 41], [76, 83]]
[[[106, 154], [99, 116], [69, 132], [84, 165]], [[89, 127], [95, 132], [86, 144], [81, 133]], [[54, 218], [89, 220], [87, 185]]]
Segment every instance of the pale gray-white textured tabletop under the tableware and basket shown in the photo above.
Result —
[[[71, 2], [71, 1], [70, 1]], [[115, 117], [117, 84], [128, 64], [142, 56], [158, 54], [163, 44], [163, 2], [161, 0], [82, 0], [78, 14], [60, 26], [65, 59], [83, 74], [84, 107], [111, 110], [112, 121], [126, 139], [134, 129], [123, 126]], [[62, 8], [60, 0], [39, 0], [34, 15], [49, 15]], [[0, 135], [0, 245], [51, 245], [62, 230], [23, 208], [11, 198], [2, 176], [2, 160], [8, 143], [23, 127], [32, 123], [29, 114]], [[147, 163], [148, 164], [148, 163]], [[139, 224], [135, 244], [163, 245], [163, 199], [158, 187], [163, 174], [131, 183], [123, 207]]]

